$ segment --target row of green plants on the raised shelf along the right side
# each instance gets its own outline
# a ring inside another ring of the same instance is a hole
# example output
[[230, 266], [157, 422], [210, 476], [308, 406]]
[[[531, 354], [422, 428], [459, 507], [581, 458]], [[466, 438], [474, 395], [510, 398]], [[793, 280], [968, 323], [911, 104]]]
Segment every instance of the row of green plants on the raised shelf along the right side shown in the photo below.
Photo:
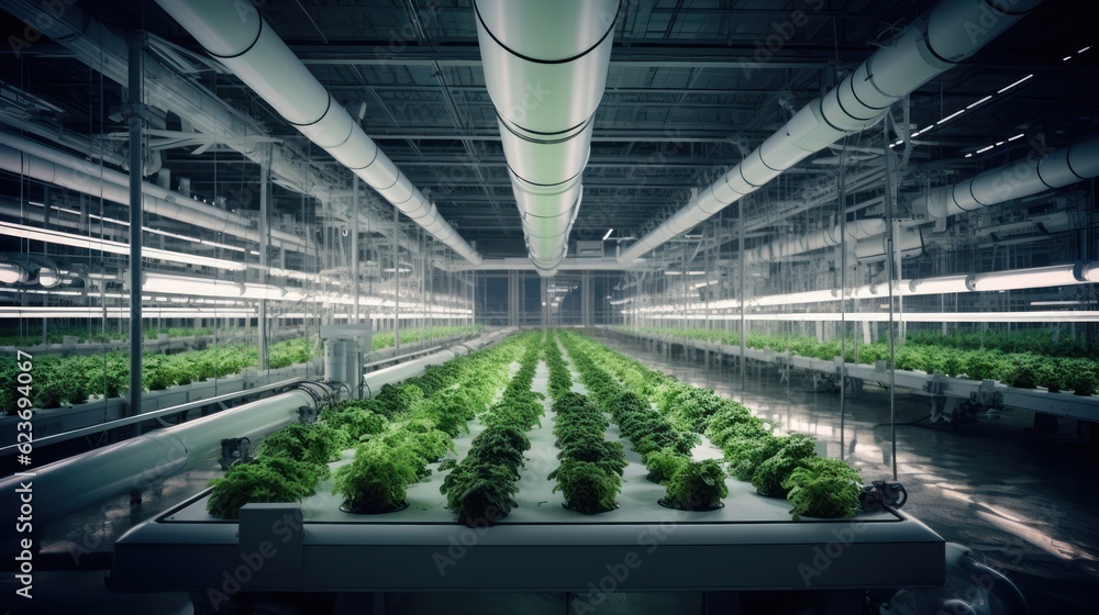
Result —
[[[621, 331], [631, 333], [623, 327]], [[728, 345], [740, 345], [740, 334], [708, 329], [642, 327], [645, 335], [670, 335], [688, 339], [703, 339]], [[961, 339], [961, 346], [952, 344]], [[931, 343], [930, 340], [934, 340]], [[952, 378], [972, 380], [997, 380], [1009, 387], [1034, 389], [1044, 387], [1050, 391], [1073, 392], [1077, 395], [1092, 395], [1099, 389], [1099, 360], [1085, 356], [1050, 356], [1031, 351], [1004, 351], [998, 347], [973, 348], [973, 337], [934, 336], [919, 334], [909, 336], [904, 345], [895, 348], [897, 369], [940, 372]], [[886, 343], [856, 344], [848, 338], [844, 347], [841, 340], [818, 342], [815, 337], [751, 334], [750, 348], [769, 348], [778, 353], [789, 351], [801, 357], [813, 357], [831, 361], [843, 356], [847, 362], [874, 365], [889, 364], [889, 345]], [[1006, 347], [1018, 348], [1017, 345]]]

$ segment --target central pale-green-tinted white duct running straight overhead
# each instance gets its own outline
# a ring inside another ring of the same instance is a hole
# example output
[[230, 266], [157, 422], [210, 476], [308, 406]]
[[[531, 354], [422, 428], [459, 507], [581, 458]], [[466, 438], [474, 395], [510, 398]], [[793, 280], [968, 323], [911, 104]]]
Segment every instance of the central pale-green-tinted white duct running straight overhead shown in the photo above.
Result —
[[526, 246], [550, 277], [580, 208], [619, 0], [477, 0], [474, 9]]

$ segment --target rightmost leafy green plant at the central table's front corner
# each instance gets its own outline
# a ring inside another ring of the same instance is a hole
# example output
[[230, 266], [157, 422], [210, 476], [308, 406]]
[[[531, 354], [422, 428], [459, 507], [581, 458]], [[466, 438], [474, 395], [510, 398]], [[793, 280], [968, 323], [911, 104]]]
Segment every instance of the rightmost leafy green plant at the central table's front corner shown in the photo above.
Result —
[[840, 459], [818, 457], [795, 468], [782, 487], [795, 518], [847, 518], [858, 514], [863, 478]]

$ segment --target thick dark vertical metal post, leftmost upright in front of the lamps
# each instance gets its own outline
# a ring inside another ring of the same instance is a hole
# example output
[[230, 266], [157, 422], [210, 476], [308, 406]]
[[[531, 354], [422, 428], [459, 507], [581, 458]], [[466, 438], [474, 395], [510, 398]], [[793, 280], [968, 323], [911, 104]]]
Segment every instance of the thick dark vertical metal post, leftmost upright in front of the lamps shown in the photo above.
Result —
[[[130, 124], [130, 400], [126, 413], [130, 416], [141, 414], [142, 398], [142, 144], [145, 135], [142, 124], [144, 107], [142, 105], [142, 86], [144, 81], [143, 47], [145, 35], [140, 32], [130, 33], [129, 40], [130, 75], [127, 82], [129, 124]], [[141, 425], [134, 424], [134, 434], [141, 435]]]

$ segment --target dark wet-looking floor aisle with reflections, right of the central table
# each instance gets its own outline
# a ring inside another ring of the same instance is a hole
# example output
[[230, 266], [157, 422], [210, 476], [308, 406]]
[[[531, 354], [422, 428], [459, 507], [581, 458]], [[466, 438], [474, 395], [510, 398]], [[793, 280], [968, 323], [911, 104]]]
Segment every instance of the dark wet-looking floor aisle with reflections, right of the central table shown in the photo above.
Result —
[[[707, 368], [701, 359], [667, 357], [619, 338], [599, 340], [681, 381], [712, 388], [782, 429], [826, 441], [829, 455], [840, 455], [839, 393], [807, 392], [797, 378], [788, 385], [776, 372], [751, 369], [742, 391], [739, 371], [729, 367]], [[891, 479], [889, 392], [867, 387], [862, 399], [845, 405], [846, 459], [867, 482]], [[1031, 613], [1094, 614], [1099, 447], [1088, 443], [1087, 426], [1063, 420], [1056, 433], [1037, 434], [1030, 429], [1033, 414], [1015, 410], [959, 427], [932, 425], [928, 415], [922, 398], [897, 394], [897, 471], [909, 492], [904, 511], [1006, 572]]]

